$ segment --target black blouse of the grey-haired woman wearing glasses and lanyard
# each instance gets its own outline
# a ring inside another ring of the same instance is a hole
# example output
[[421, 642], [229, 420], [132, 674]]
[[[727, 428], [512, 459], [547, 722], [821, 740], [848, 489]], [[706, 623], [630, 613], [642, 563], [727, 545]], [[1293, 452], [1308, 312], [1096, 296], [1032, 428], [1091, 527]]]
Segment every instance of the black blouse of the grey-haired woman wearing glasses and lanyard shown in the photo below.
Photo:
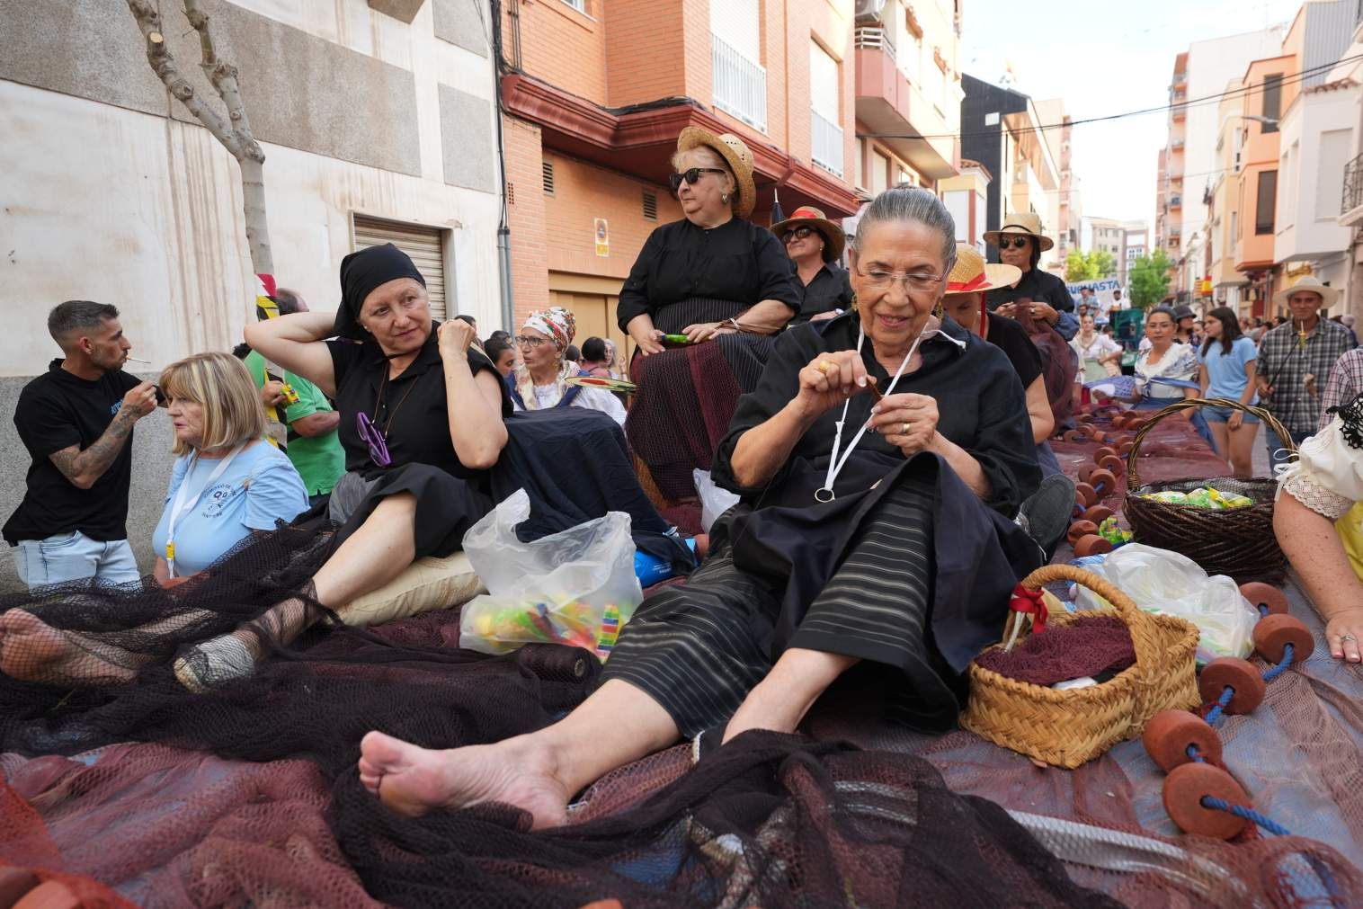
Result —
[[[818, 418], [796, 443], [785, 466], [762, 488], [743, 487], [733, 476], [732, 458], [739, 436], [766, 422], [795, 398], [800, 387], [800, 369], [821, 353], [856, 349], [859, 324], [855, 312], [845, 312], [827, 322], [791, 328], [777, 338], [761, 384], [756, 391], [739, 399], [728, 435], [716, 451], [711, 474], [717, 484], [755, 502], [763, 493], [780, 493], [778, 488], [791, 476], [792, 463], [799, 458], [821, 472], [827, 470], [836, 424], [842, 416], [841, 406]], [[938, 432], [965, 448], [980, 463], [990, 481], [990, 497], [984, 504], [1011, 518], [1022, 500], [1036, 492], [1041, 482], [1026, 394], [1017, 371], [999, 348], [950, 319], [942, 323], [942, 330], [951, 338], [965, 341], [965, 348], [939, 335], [928, 338], [920, 346], [923, 365], [901, 376], [890, 394], [915, 392], [936, 399]], [[885, 388], [890, 373], [875, 358], [870, 338], [861, 345], [861, 361]], [[842, 431], [844, 451], [856, 431], [871, 418], [874, 403], [872, 394], [852, 398]], [[878, 433], [867, 432], [861, 436], [857, 450], [863, 448], [879, 455], [904, 457], [898, 447]], [[840, 495], [852, 492], [842, 489], [841, 482], [840, 477], [834, 485]]]

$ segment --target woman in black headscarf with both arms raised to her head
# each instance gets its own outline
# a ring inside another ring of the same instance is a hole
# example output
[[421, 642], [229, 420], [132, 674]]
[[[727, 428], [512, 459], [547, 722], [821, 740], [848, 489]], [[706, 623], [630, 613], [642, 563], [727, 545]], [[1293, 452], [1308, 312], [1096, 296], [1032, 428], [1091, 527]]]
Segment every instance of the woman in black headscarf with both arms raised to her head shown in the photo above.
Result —
[[[60, 668], [26, 676], [44, 681], [120, 681], [170, 656], [168, 649], [192, 645], [179, 653], [176, 676], [204, 688], [249, 676], [326, 609], [383, 586], [413, 560], [459, 549], [493, 504], [487, 472], [507, 440], [506, 386], [492, 363], [469, 349], [472, 326], [454, 320], [436, 330], [421, 273], [397, 247], [346, 256], [341, 288], [337, 315], [300, 312], [247, 328], [255, 350], [313, 382], [341, 412], [348, 473], [331, 493], [330, 517], [341, 526], [330, 557], [297, 578], [298, 559], [284, 552], [288, 531], [281, 531], [285, 540], [241, 553], [269, 572], [264, 578], [215, 566], [174, 597], [143, 594], [121, 623], [116, 615], [91, 619], [86, 609], [60, 626], [80, 634], [59, 632], [42, 647], [0, 638], [3, 664], [42, 660]], [[323, 341], [333, 335], [339, 338]], [[251, 589], [233, 593], [224, 589], [229, 582]], [[117, 612], [119, 604], [108, 605], [104, 613]], [[236, 630], [233, 615], [245, 620]]]

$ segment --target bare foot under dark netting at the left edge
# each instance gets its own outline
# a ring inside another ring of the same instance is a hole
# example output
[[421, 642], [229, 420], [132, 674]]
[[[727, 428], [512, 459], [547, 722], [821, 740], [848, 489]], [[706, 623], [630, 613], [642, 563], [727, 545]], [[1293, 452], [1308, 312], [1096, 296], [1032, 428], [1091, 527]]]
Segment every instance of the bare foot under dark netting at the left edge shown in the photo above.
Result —
[[60, 631], [31, 612], [0, 615], [0, 672], [25, 681], [108, 684], [132, 681], [150, 657]]

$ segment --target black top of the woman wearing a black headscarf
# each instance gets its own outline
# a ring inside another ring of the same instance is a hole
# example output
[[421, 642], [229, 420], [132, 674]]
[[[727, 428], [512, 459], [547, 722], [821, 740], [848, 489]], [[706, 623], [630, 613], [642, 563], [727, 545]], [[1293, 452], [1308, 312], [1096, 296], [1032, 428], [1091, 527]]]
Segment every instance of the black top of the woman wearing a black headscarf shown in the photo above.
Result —
[[[383, 378], [388, 372], [388, 361], [373, 341], [356, 343], [341, 338], [327, 341], [327, 348], [335, 369], [337, 410], [341, 413], [338, 431], [345, 447], [346, 470], [357, 470], [371, 480], [384, 472], [384, 467], [373, 463], [369, 446], [360, 439], [356, 414], [364, 413], [386, 433], [388, 457], [393, 459], [387, 469], [425, 463], [462, 480], [485, 484], [487, 472], [465, 467], [454, 452], [444, 394], [444, 364], [433, 327], [417, 358], [402, 375], [387, 382]], [[502, 417], [511, 416], [511, 395], [492, 361], [470, 349], [469, 368], [474, 376], [484, 371], [492, 372], [502, 390]]]

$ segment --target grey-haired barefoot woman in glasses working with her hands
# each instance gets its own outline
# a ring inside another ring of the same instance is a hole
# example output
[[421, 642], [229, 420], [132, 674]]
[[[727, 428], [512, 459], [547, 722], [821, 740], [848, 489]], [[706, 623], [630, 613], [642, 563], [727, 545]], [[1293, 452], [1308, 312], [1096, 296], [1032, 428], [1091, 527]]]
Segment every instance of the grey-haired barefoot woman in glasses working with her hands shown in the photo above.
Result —
[[928, 191], [871, 203], [856, 311], [777, 342], [716, 457], [743, 502], [688, 582], [639, 606], [587, 700], [454, 751], [371, 732], [361, 782], [409, 814], [500, 801], [562, 825], [574, 793], [680, 736], [796, 729], [853, 666], [887, 714], [951, 728], [966, 664], [1041, 560], [1006, 518], [1040, 482], [1022, 384], [1002, 350], [932, 315], [953, 237]]

